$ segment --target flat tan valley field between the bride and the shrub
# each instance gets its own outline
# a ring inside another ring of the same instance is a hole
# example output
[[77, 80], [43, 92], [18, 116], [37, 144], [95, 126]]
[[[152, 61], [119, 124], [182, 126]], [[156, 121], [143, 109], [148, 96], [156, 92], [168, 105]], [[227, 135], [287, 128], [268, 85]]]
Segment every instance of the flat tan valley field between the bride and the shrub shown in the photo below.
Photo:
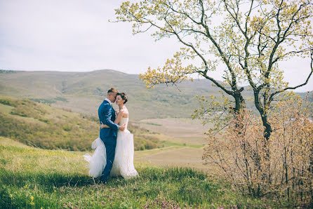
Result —
[[[152, 132], [162, 133], [160, 140], [167, 146], [135, 152], [135, 161], [152, 163], [164, 167], [189, 167], [208, 171], [203, 165], [204, 132], [210, 126], [201, 125], [192, 119], [144, 119], [136, 123]], [[210, 169], [211, 170], [211, 169]]]

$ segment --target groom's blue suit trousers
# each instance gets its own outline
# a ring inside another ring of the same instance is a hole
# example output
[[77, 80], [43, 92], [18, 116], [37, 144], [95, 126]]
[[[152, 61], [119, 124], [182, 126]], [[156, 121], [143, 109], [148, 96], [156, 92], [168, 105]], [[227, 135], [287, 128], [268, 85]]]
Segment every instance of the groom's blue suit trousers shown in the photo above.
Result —
[[115, 147], [116, 147], [116, 137], [106, 137], [105, 140], [102, 140], [105, 143], [105, 150], [107, 152], [107, 164], [105, 165], [105, 169], [102, 172], [100, 180], [106, 182], [109, 177], [109, 173], [112, 170], [114, 155], [115, 155]]

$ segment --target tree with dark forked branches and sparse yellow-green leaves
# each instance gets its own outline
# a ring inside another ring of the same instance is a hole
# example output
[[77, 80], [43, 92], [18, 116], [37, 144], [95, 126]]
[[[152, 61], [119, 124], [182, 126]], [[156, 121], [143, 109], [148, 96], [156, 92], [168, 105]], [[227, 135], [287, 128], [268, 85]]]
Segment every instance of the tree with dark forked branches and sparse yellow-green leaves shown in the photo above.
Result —
[[[312, 14], [309, 0], [143, 0], [122, 3], [116, 22], [132, 22], [133, 34], [152, 31], [156, 40], [174, 36], [182, 43], [164, 67], [140, 74], [147, 88], [199, 74], [232, 98], [225, 108], [237, 116], [246, 108], [240, 85], [247, 83], [268, 141], [272, 102], [305, 86], [313, 73]], [[289, 86], [279, 62], [297, 56], [312, 62], [305, 81]], [[218, 67], [224, 69], [222, 83], [211, 76]]]

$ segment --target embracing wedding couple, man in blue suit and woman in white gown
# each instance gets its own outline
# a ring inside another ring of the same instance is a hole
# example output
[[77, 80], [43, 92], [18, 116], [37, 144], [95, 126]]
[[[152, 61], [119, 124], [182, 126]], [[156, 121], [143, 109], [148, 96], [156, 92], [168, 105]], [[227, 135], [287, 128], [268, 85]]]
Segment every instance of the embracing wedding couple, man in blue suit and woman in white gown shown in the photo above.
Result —
[[[100, 177], [101, 182], [107, 182], [109, 176], [128, 179], [138, 175], [133, 166], [133, 134], [127, 130], [127, 100], [126, 93], [110, 88], [98, 109], [100, 134], [91, 145], [95, 149], [93, 156], [85, 154], [84, 159], [89, 162], [89, 174]], [[113, 109], [113, 102], [119, 105], [119, 110]]]

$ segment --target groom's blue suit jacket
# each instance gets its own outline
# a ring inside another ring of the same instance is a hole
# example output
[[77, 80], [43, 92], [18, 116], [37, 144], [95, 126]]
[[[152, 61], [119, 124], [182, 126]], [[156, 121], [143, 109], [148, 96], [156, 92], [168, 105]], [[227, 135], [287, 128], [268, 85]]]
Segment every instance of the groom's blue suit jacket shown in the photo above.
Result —
[[104, 100], [98, 109], [98, 116], [100, 124], [103, 123], [109, 128], [100, 128], [100, 139], [105, 142], [109, 137], [115, 137], [117, 135], [117, 130], [119, 130], [119, 125], [116, 125], [115, 121], [115, 110], [112, 105]]

